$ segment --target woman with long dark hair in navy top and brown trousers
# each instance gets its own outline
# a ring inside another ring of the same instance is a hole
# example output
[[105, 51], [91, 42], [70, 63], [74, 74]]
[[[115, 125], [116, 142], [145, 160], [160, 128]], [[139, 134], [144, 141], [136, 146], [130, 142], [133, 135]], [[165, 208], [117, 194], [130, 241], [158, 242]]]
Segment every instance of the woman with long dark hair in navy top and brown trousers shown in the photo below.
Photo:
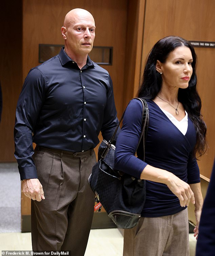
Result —
[[132, 99], [116, 142], [115, 168], [146, 180], [146, 201], [138, 225], [124, 231], [124, 256], [188, 256], [187, 206], [202, 208], [196, 157], [206, 150], [206, 125], [196, 90], [196, 54], [189, 41], [159, 40], [146, 61], [137, 97], [146, 99], [149, 127], [145, 161], [141, 145], [142, 105]]

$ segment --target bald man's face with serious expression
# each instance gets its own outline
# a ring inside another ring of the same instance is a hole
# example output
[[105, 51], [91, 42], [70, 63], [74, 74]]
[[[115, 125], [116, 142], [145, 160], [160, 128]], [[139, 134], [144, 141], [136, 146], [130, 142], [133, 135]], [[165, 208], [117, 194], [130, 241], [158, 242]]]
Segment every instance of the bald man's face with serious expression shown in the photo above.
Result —
[[74, 15], [65, 28], [65, 48], [74, 56], [90, 53], [95, 38], [95, 21], [91, 14], [78, 13]]

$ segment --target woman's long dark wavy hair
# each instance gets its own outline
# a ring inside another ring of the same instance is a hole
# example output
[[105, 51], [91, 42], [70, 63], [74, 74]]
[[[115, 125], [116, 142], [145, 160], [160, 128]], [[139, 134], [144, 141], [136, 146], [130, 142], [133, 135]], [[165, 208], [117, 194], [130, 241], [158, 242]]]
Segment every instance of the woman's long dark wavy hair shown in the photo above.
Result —
[[188, 112], [190, 119], [196, 129], [196, 145], [193, 152], [193, 157], [199, 157], [205, 153], [207, 149], [206, 144], [206, 131], [207, 127], [202, 120], [201, 115], [201, 99], [196, 90], [196, 53], [192, 44], [178, 36], [167, 36], [160, 39], [150, 51], [146, 60], [145, 69], [143, 72], [142, 84], [137, 93], [137, 97], [143, 97], [145, 99], [154, 99], [159, 93], [162, 86], [162, 76], [156, 71], [156, 63], [159, 60], [164, 63], [168, 58], [170, 52], [180, 46], [186, 46], [191, 50], [193, 62], [193, 74], [189, 81], [189, 86], [186, 89], [179, 88], [178, 100], [181, 102]]

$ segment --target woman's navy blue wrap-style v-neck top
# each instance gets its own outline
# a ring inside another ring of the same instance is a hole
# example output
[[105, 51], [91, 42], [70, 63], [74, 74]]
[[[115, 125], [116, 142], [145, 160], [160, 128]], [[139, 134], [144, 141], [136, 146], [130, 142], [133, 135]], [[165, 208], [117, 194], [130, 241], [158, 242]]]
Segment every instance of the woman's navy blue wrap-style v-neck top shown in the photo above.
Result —
[[[147, 100], [147, 104], [149, 128], [145, 143], [145, 161], [141, 160], [141, 144], [137, 157], [134, 155], [141, 134], [142, 104], [138, 99], [132, 99], [125, 111], [122, 129], [116, 142], [115, 168], [140, 178], [141, 172], [149, 164], [170, 171], [189, 184], [200, 182], [197, 161], [192, 158], [196, 131], [189, 116], [187, 133], [183, 135], [156, 103]], [[142, 217], [172, 215], [184, 208], [167, 185], [146, 181], [146, 201]]]

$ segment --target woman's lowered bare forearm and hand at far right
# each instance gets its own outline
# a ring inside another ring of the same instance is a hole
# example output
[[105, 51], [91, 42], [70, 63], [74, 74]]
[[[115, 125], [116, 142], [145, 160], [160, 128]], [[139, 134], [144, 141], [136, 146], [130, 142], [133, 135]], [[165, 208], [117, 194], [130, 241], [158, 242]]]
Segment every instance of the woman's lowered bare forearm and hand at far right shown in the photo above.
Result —
[[195, 184], [190, 184], [190, 187], [194, 193], [194, 197], [195, 197], [195, 216], [196, 216], [196, 226], [194, 228], [194, 237], [196, 237], [196, 239], [198, 238], [198, 234], [199, 234], [199, 221], [200, 221], [200, 217], [201, 217], [201, 209], [202, 209], [202, 205], [203, 205], [203, 197], [201, 194], [201, 185], [200, 182], [199, 183], [195, 183]]

